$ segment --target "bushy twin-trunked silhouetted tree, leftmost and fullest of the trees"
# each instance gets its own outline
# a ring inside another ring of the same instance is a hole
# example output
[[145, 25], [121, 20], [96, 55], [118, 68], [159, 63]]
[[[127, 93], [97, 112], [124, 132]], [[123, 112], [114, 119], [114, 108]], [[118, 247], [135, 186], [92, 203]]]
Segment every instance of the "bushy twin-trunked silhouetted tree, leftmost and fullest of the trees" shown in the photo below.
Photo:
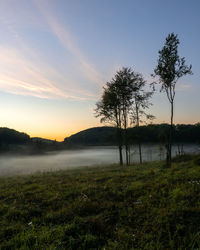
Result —
[[107, 82], [101, 98], [97, 103], [96, 116], [102, 117], [101, 122], [114, 122], [118, 131], [118, 144], [120, 164], [123, 164], [122, 146], [124, 129], [124, 143], [126, 149], [126, 164], [129, 164], [129, 150], [127, 140], [127, 127], [129, 123], [129, 111], [132, 104], [132, 91], [134, 72], [130, 68], [122, 68], [117, 71], [110, 82]]

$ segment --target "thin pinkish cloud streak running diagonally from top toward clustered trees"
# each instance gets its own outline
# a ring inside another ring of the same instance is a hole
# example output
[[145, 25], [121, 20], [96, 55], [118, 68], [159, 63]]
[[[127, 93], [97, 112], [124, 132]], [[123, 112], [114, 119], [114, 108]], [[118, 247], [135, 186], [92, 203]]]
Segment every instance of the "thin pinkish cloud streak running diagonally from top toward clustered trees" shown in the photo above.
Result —
[[67, 29], [66, 26], [63, 26], [61, 23], [59, 23], [55, 14], [51, 10], [50, 2], [45, 0], [34, 0], [34, 2], [62, 46], [67, 51], [70, 51], [79, 62], [81, 72], [87, 77], [88, 80], [102, 87], [104, 83], [102, 75], [95, 69], [95, 66], [89, 62], [84, 53], [76, 45], [76, 39], [72, 33]]

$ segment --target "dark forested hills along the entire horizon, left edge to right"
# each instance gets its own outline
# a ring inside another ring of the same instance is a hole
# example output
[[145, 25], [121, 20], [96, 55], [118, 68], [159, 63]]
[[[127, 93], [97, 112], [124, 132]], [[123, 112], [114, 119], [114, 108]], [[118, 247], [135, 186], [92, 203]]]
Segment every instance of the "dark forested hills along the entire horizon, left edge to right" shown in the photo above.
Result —
[[[142, 143], [164, 144], [169, 126], [150, 124], [128, 128], [128, 142], [131, 145], [137, 143], [140, 138]], [[117, 145], [116, 132], [114, 127], [94, 127], [66, 137], [63, 142], [57, 142], [39, 137], [31, 138], [28, 134], [14, 129], [0, 128], [0, 152], [40, 154], [74, 147]], [[174, 143], [200, 143], [200, 123], [174, 125], [173, 137]]]

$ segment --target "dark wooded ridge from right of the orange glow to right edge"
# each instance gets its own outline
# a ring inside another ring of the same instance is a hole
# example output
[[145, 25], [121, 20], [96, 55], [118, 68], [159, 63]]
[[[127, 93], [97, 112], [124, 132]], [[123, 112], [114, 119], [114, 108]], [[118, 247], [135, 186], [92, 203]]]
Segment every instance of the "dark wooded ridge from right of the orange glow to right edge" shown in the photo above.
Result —
[[[129, 143], [142, 142], [166, 143], [168, 124], [150, 124], [128, 129]], [[116, 145], [116, 128], [95, 127], [83, 130], [65, 138], [68, 145]], [[177, 124], [173, 129], [173, 141], [180, 143], [200, 143], [200, 123], [194, 125]]]

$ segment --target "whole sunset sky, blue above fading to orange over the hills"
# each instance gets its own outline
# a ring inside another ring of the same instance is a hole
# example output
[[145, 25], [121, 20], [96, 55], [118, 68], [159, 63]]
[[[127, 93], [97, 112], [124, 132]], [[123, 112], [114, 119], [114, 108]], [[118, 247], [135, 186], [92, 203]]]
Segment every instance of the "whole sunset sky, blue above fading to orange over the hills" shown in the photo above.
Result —
[[[179, 79], [175, 123], [200, 122], [199, 0], [1, 0], [0, 126], [62, 141], [94, 126], [103, 86], [131, 67], [148, 83], [171, 32], [193, 75]], [[169, 122], [157, 91], [154, 123]]]

